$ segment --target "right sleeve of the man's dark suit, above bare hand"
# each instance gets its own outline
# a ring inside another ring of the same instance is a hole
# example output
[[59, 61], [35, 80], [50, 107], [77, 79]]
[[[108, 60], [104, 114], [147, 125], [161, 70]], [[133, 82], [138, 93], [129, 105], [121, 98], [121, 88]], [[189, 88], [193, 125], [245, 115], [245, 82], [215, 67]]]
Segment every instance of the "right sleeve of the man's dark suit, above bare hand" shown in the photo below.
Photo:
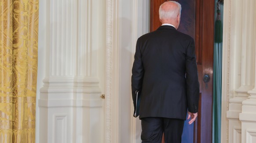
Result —
[[199, 102], [199, 81], [193, 38], [191, 38], [186, 50], [186, 88], [188, 111], [196, 113]]

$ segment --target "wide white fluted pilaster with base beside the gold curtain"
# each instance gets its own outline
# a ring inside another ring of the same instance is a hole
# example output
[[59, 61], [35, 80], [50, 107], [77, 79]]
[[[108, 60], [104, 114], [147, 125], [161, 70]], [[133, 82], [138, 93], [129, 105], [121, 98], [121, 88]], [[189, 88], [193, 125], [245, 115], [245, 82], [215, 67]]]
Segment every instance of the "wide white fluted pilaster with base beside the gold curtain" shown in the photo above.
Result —
[[38, 102], [39, 142], [103, 143], [106, 2], [45, 3], [40, 7], [46, 15], [41, 24], [46, 65]]

